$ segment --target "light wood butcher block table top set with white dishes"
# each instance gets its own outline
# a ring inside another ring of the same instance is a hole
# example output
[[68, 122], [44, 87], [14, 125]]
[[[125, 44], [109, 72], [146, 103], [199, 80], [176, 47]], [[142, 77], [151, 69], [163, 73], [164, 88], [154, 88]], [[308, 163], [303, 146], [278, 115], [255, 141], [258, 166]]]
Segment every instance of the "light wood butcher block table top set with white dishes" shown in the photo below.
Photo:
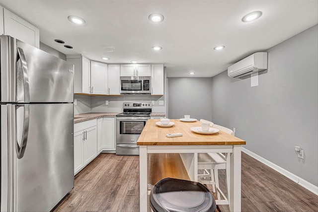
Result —
[[[220, 131], [216, 134], [197, 134], [190, 130], [192, 127], [200, 127], [200, 121], [181, 122], [171, 119], [174, 126], [162, 128], [156, 125], [157, 119], [147, 121], [137, 145], [243, 145], [246, 142]], [[168, 133], [182, 133], [181, 137], [167, 138]]]

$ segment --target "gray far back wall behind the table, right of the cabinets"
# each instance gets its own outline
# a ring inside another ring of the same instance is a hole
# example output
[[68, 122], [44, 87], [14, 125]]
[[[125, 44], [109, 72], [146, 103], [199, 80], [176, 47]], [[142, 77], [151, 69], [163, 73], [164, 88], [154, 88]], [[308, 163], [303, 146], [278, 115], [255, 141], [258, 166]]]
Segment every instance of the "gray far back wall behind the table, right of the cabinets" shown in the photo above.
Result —
[[168, 118], [212, 119], [212, 78], [168, 78]]

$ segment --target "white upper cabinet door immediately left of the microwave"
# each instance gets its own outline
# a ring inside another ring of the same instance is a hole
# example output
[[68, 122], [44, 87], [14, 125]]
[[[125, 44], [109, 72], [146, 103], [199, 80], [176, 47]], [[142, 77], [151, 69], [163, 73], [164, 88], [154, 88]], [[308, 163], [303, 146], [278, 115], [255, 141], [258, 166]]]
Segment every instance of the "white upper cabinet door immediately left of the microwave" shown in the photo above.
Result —
[[108, 95], [120, 95], [120, 65], [108, 64]]

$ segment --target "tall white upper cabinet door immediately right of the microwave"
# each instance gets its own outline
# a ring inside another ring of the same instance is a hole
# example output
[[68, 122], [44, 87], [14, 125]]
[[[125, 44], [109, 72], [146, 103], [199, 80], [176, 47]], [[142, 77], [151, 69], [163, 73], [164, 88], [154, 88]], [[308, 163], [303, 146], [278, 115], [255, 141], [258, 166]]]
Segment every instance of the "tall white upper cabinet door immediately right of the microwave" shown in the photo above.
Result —
[[152, 95], [163, 95], [163, 64], [151, 65]]

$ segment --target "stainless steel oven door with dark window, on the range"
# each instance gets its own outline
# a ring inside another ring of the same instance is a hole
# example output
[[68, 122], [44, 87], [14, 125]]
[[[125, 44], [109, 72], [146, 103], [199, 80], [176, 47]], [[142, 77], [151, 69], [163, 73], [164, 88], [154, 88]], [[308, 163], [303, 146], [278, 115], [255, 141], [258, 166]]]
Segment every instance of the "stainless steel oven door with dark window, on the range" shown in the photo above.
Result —
[[116, 117], [116, 143], [136, 144], [150, 117]]

